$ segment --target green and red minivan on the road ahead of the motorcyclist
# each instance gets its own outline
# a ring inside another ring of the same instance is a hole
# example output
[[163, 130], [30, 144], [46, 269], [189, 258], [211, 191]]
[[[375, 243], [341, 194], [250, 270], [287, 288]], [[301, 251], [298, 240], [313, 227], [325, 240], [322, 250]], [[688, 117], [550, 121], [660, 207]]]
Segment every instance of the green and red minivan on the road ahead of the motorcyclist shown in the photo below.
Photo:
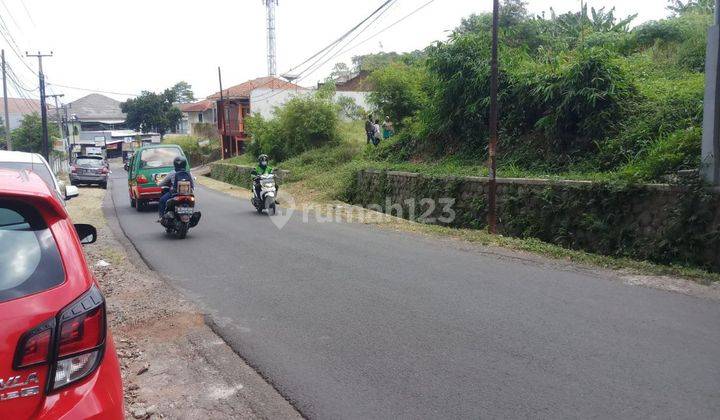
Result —
[[[128, 165], [128, 194], [130, 206], [142, 211], [151, 201], [162, 195], [158, 183], [173, 170], [173, 160], [185, 157], [182, 148], [175, 144], [144, 146], [135, 151]], [[190, 163], [187, 164], [190, 170]]]

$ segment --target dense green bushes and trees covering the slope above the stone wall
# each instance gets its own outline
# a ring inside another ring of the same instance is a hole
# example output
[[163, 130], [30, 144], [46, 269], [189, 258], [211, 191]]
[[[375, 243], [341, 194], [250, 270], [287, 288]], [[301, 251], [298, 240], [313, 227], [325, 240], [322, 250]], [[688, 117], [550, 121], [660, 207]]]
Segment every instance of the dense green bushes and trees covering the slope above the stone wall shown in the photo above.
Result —
[[[668, 18], [631, 28], [634, 16], [614, 10], [584, 6], [540, 17], [522, 0], [504, 0], [498, 174], [667, 182], [679, 170], [697, 169], [711, 5], [672, 1]], [[485, 174], [490, 24], [489, 14], [473, 15], [422, 51], [353, 59], [352, 71], [371, 72], [372, 112], [396, 126], [397, 135], [379, 147], [363, 147], [361, 126], [357, 141], [343, 144], [340, 121], [360, 110], [338, 106], [324, 92], [290, 101], [270, 120], [253, 117], [250, 152], [300, 173], [312, 162], [336, 170]], [[333, 76], [348, 72], [338, 65]], [[334, 157], [346, 160], [332, 166]]]

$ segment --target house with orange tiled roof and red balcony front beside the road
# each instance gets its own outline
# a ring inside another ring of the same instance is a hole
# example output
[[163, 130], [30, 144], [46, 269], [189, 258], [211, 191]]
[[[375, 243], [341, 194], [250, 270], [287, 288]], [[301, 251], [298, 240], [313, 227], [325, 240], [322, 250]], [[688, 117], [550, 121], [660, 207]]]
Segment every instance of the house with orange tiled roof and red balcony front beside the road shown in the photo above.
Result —
[[288, 99], [309, 90], [277, 77], [267, 76], [249, 80], [223, 89], [207, 97], [214, 103], [217, 127], [222, 137], [222, 157], [243, 153], [248, 135], [245, 133], [245, 117], [260, 114], [266, 118]]

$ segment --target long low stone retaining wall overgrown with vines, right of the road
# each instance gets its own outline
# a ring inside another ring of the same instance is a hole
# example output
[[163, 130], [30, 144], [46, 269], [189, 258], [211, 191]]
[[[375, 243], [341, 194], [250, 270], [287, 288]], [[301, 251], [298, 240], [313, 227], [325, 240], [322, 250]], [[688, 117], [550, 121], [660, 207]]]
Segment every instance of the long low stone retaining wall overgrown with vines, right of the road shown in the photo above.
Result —
[[[589, 181], [498, 180], [500, 232], [564, 247], [720, 271], [720, 193], [699, 185], [615, 185]], [[402, 216], [451, 227], [485, 228], [488, 179], [365, 170], [350, 201], [402, 209]], [[440, 199], [454, 200], [443, 223]], [[409, 203], [414, 203], [411, 209]], [[412, 211], [411, 211], [412, 210]]]

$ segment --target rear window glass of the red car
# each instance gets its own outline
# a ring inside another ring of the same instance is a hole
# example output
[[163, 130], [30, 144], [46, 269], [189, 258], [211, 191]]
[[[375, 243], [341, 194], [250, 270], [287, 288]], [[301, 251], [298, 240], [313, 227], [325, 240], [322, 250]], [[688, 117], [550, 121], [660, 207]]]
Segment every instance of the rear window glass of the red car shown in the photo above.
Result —
[[64, 279], [55, 238], [37, 210], [0, 199], [0, 302], [47, 290]]

